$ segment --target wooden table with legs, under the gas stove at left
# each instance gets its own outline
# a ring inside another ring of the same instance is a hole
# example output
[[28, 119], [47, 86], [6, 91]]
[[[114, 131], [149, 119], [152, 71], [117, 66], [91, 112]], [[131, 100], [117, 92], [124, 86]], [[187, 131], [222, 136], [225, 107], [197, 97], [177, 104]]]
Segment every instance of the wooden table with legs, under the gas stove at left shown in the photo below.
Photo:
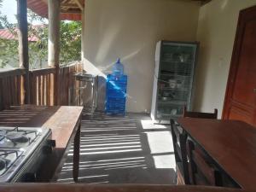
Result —
[[41, 167], [40, 181], [55, 181], [74, 141], [73, 179], [79, 177], [79, 144], [82, 107], [13, 106], [0, 112], [0, 126], [46, 127], [52, 131], [56, 146]]

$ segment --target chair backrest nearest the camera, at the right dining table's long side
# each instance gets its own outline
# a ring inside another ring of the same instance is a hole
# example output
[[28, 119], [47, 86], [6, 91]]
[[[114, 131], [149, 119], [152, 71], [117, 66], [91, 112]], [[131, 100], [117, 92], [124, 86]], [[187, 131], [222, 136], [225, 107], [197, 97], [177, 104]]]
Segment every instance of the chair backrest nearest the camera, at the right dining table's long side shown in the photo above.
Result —
[[221, 173], [212, 160], [190, 139], [186, 144], [189, 159], [189, 183], [195, 185], [222, 186]]

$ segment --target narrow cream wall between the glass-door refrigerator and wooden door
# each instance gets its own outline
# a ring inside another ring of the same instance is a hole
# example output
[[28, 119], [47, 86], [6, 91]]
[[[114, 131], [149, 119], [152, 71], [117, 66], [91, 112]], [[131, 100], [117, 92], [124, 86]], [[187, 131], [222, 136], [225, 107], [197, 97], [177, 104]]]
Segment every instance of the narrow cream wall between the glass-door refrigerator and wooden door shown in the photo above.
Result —
[[255, 4], [256, 0], [212, 0], [201, 7], [195, 110], [218, 108], [218, 117], [221, 117], [239, 11]]

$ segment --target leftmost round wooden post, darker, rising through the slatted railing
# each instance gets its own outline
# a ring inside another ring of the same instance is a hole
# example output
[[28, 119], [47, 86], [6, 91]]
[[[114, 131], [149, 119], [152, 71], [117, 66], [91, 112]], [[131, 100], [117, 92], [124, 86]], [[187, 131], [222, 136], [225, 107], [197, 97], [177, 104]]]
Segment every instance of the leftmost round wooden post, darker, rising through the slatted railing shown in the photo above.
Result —
[[26, 70], [24, 84], [22, 84], [25, 92], [25, 101], [21, 103], [30, 103], [30, 88], [29, 88], [29, 58], [28, 58], [28, 40], [27, 40], [27, 11], [26, 0], [17, 0], [17, 17], [18, 17], [18, 38], [19, 38], [19, 59], [20, 68]]

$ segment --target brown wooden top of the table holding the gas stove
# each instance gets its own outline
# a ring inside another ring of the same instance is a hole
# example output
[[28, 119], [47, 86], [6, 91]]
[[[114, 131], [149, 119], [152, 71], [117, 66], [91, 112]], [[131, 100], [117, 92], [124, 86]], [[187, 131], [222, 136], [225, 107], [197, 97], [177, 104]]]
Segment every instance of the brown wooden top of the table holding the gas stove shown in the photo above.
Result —
[[83, 107], [13, 106], [0, 112], [0, 126], [36, 126], [52, 131], [56, 148], [67, 148]]

